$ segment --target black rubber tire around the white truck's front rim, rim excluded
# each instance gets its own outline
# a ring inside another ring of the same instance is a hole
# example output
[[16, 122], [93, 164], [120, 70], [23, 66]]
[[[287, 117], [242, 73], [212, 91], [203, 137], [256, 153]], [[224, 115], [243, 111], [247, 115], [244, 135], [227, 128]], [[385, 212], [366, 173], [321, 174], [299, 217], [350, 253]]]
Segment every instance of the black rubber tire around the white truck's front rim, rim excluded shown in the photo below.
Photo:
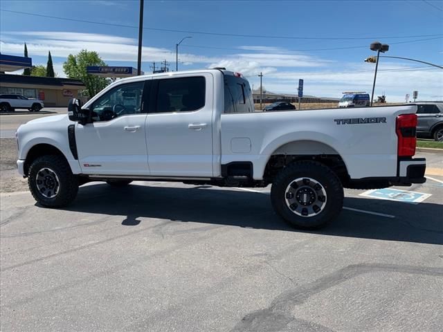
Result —
[[[48, 198], [44, 196], [37, 187], [37, 172], [41, 169], [51, 169], [57, 175], [60, 188], [57, 194]], [[71, 167], [63, 156], [41, 156], [33, 161], [28, 172], [28, 186], [37, 203], [48, 208], [62, 208], [69, 205], [77, 196], [78, 178], [72, 174]]]

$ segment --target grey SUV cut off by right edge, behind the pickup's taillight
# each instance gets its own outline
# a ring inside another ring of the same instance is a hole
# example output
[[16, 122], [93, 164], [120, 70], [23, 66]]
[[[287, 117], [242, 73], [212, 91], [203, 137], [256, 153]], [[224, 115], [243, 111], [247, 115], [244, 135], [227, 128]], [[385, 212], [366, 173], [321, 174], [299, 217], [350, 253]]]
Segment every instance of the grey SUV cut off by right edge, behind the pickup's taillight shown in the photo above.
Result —
[[431, 137], [443, 142], [443, 102], [414, 104], [417, 104], [417, 136]]

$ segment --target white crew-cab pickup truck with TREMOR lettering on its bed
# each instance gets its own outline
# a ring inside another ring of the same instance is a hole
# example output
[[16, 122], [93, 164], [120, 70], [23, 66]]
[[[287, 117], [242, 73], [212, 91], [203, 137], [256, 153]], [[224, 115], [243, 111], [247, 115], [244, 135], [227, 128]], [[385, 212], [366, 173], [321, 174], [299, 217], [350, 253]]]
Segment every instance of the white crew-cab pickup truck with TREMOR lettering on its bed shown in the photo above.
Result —
[[272, 184], [284, 220], [319, 228], [341, 212], [343, 187], [426, 181], [426, 160], [413, 158], [416, 108], [255, 112], [239, 73], [145, 75], [109, 85], [84, 106], [72, 100], [68, 115], [21, 125], [17, 165], [47, 207], [67, 205], [89, 181]]

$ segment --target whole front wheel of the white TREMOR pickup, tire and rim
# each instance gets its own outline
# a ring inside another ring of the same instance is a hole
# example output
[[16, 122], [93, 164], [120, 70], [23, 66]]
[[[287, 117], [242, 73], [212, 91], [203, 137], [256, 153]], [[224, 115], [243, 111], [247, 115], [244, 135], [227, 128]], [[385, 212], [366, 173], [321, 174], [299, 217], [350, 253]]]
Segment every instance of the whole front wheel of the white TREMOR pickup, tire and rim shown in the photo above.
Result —
[[48, 208], [71, 203], [78, 192], [78, 178], [62, 156], [41, 156], [29, 167], [28, 185], [35, 201]]

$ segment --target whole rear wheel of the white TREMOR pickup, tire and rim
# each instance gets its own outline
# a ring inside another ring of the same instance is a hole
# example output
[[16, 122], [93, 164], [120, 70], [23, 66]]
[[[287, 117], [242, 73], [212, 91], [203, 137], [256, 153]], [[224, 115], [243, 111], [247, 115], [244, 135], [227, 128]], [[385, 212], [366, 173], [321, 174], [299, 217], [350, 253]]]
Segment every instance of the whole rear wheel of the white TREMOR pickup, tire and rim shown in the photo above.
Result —
[[295, 228], [318, 229], [343, 208], [343, 186], [332, 170], [314, 161], [285, 167], [273, 181], [271, 203], [275, 212]]

